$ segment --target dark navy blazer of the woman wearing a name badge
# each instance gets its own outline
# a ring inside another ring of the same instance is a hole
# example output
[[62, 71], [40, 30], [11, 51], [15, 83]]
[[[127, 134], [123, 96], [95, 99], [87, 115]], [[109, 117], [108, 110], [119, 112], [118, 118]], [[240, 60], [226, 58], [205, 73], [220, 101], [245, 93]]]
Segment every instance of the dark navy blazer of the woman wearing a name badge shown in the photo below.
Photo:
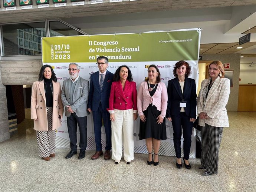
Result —
[[[180, 101], [182, 101], [181, 86], [178, 77], [168, 81], [167, 86], [168, 105], [166, 117], [180, 114]], [[183, 100], [186, 101], [184, 107], [185, 113], [188, 117], [196, 119], [196, 82], [194, 79], [185, 78], [183, 87]]]

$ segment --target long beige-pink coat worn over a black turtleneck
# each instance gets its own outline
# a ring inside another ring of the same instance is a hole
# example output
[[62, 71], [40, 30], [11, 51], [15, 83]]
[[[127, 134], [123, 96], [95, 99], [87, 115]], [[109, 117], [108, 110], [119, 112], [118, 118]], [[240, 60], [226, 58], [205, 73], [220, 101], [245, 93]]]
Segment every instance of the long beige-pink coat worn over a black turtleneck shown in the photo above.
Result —
[[[59, 115], [63, 115], [63, 104], [60, 99], [60, 83], [52, 81], [53, 86], [53, 103], [52, 103], [52, 130], [61, 126]], [[47, 131], [47, 110], [45, 99], [45, 85], [43, 80], [36, 81], [32, 86], [31, 94], [31, 119], [34, 120], [34, 129], [37, 131]]]

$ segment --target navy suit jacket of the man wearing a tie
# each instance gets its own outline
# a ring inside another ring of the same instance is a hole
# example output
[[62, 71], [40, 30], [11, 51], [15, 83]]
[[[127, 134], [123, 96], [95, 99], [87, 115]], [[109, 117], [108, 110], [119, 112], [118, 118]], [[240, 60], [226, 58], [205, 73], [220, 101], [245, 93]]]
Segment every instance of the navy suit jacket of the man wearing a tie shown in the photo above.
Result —
[[88, 108], [92, 109], [92, 111], [98, 110], [100, 102], [104, 110], [109, 107], [108, 102], [113, 77], [114, 74], [107, 70], [101, 90], [101, 87], [99, 86], [99, 71], [92, 73], [88, 100]]

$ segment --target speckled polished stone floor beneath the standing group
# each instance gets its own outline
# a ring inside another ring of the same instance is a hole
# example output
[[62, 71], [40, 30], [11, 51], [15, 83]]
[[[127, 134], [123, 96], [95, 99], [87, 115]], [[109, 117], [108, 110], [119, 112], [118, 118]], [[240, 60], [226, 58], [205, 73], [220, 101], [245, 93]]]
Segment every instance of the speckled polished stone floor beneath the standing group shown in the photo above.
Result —
[[[49, 162], [37, 155], [33, 122], [25, 119], [19, 133], [0, 143], [0, 191], [256, 191], [256, 113], [229, 112], [224, 129], [219, 174], [201, 176], [200, 159], [190, 159], [191, 169], [177, 169], [175, 158], [160, 156], [158, 166], [147, 165], [147, 155], [135, 154], [130, 165], [103, 157], [78, 155], [65, 159], [67, 149], [57, 149]], [[28, 117], [29, 118], [29, 117]]]

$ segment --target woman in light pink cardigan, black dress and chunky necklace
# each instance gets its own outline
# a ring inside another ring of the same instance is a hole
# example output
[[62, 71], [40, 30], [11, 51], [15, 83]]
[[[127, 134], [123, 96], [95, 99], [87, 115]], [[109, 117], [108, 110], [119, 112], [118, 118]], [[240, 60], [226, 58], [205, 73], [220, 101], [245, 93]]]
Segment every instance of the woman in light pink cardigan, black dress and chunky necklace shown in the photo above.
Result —
[[[146, 139], [148, 165], [157, 166], [160, 139], [165, 140], [165, 113], [167, 109], [167, 89], [161, 82], [160, 72], [154, 64], [148, 67], [148, 77], [138, 90], [137, 105], [140, 115], [140, 140]], [[154, 161], [152, 147], [154, 146]]]

